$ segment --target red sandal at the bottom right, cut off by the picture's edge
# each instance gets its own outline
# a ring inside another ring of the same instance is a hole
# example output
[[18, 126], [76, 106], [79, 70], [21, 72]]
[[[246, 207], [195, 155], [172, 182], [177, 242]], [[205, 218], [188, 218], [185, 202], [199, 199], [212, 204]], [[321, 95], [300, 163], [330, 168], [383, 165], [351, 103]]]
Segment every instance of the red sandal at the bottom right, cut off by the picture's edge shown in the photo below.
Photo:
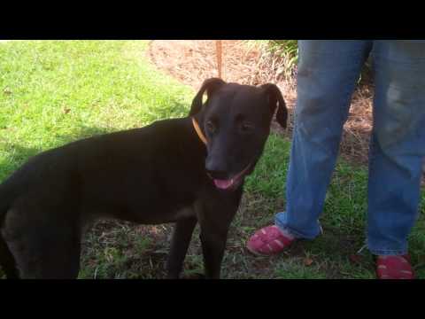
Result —
[[376, 276], [378, 279], [414, 279], [409, 255], [378, 256]]

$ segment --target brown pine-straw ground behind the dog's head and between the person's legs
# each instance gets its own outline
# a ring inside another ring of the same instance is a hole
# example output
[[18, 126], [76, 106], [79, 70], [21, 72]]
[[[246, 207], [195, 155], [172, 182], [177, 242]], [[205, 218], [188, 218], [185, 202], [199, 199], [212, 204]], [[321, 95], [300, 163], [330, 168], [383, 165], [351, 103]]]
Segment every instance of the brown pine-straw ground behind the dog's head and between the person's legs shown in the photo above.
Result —
[[[214, 40], [152, 41], [148, 51], [151, 61], [179, 81], [199, 89], [209, 77], [218, 76]], [[259, 85], [275, 83], [281, 90], [290, 111], [290, 125], [285, 131], [274, 123], [274, 131], [291, 136], [293, 108], [297, 97], [295, 76], [282, 72], [285, 61], [265, 51], [264, 46], [238, 40], [222, 41], [222, 78], [227, 82]], [[359, 82], [352, 96], [348, 121], [344, 125], [341, 155], [354, 163], [367, 165], [372, 128], [372, 97], [374, 86], [367, 76]], [[425, 163], [424, 163], [425, 169]], [[425, 176], [424, 176], [425, 178]], [[425, 181], [422, 181], [422, 185]]]

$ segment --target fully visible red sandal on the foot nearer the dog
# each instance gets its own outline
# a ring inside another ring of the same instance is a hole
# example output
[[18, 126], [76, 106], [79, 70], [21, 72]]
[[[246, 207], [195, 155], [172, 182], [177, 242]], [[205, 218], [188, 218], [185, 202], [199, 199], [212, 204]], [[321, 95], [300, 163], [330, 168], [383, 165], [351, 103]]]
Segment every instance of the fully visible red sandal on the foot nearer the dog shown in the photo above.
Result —
[[290, 238], [282, 234], [282, 231], [275, 225], [257, 230], [248, 240], [246, 248], [256, 255], [268, 256], [281, 253], [296, 238]]

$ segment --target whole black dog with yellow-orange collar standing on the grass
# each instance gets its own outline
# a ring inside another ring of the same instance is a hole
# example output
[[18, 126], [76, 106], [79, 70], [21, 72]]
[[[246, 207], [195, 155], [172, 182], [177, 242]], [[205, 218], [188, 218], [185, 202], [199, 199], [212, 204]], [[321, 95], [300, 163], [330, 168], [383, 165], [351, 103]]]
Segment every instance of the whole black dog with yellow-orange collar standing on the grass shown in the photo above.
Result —
[[[203, 96], [207, 100], [203, 105]], [[81, 233], [98, 217], [176, 222], [167, 261], [178, 278], [197, 222], [207, 278], [220, 277], [228, 227], [267, 141], [286, 126], [274, 84], [206, 80], [189, 117], [42, 152], [0, 185], [0, 262], [8, 278], [75, 278]]]

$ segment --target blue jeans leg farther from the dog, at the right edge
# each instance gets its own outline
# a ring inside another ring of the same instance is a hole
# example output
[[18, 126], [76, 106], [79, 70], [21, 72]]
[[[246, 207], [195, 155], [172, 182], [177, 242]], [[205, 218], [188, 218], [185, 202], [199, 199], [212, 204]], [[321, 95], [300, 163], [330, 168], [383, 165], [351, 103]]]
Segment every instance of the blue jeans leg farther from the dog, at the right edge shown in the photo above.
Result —
[[425, 156], [425, 41], [375, 41], [367, 246], [404, 255], [418, 216]]

